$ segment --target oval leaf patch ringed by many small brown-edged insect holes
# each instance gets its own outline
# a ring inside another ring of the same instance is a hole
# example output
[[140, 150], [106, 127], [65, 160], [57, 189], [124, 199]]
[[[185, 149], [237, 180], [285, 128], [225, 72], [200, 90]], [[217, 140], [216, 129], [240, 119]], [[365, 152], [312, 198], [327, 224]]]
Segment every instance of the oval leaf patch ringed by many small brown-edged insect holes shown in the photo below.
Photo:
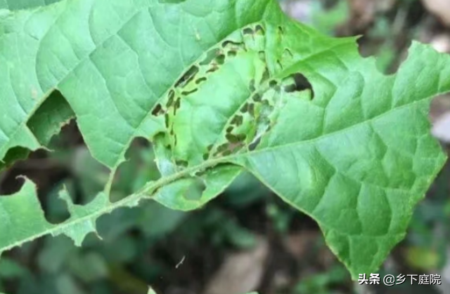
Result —
[[[272, 77], [265, 31], [262, 24], [244, 27], [211, 48], [153, 109], [154, 116], [164, 116], [162, 140], [176, 166], [256, 149], [288, 99], [314, 98], [303, 74]], [[293, 58], [288, 49], [283, 56]], [[282, 68], [284, 62], [277, 65]], [[198, 133], [200, 127], [205, 133]]]

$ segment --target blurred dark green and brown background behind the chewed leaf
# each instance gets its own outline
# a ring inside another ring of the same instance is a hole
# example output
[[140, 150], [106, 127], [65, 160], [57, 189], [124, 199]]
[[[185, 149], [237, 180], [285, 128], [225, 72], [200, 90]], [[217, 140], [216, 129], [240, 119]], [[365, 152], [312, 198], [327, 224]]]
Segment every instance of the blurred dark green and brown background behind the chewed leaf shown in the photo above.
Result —
[[[291, 17], [324, 34], [362, 35], [361, 55], [377, 56], [392, 74], [411, 39], [450, 52], [448, 0], [285, 0]], [[53, 95], [59, 95], [54, 93]], [[450, 99], [431, 107], [433, 133], [449, 151]], [[108, 171], [86, 149], [72, 121], [53, 138], [53, 152], [34, 152], [0, 173], [0, 194], [17, 191], [18, 175], [37, 182], [50, 222], [68, 218], [57, 192], [75, 203], [100, 192]], [[135, 140], [113, 185], [113, 201], [158, 178], [148, 142]], [[298, 213], [249, 174], [241, 175], [205, 208], [184, 213], [148, 201], [98, 220], [99, 236], [77, 248], [45, 237], [15, 248], [0, 261], [0, 292], [10, 294], [450, 293], [450, 165], [439, 175], [411, 221], [406, 239], [380, 274], [441, 274], [441, 286], [359, 286], [323, 242], [313, 220]], [[426, 288], [425, 288], [426, 287]]]

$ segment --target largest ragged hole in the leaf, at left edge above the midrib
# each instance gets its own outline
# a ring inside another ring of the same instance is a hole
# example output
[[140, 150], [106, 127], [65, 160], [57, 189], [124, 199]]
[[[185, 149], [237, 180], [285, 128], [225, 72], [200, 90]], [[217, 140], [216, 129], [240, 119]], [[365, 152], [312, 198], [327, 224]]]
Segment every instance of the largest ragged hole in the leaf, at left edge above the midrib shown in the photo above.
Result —
[[[56, 131], [60, 125], [55, 124], [53, 127]], [[0, 175], [3, 178], [0, 190], [1, 194], [18, 192], [23, 180], [16, 178], [18, 175], [25, 175], [38, 187], [37, 196], [46, 219], [56, 224], [70, 217], [67, 203], [58, 197], [63, 187], [67, 188], [72, 203], [89, 203], [103, 190], [106, 182], [104, 179], [108, 178], [110, 171], [91, 156], [75, 121], [70, 121], [61, 128], [57, 136], [52, 138], [51, 135], [48, 146], [55, 151], [38, 150], [32, 152], [27, 160], [16, 162]], [[15, 154], [22, 151], [12, 149], [11, 152]]]

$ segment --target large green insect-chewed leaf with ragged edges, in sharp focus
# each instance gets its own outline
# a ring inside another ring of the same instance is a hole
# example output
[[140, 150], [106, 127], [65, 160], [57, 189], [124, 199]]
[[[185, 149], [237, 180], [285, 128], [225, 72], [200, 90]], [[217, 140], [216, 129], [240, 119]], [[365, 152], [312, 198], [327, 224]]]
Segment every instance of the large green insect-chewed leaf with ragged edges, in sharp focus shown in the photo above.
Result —
[[[427, 115], [431, 98], [450, 91], [450, 59], [414, 42], [399, 72], [384, 76], [355, 41], [288, 19], [274, 0], [0, 11], [4, 166], [75, 118], [110, 171], [84, 206], [62, 189], [70, 218], [56, 225], [30, 180], [1, 197], [0, 251], [46, 234], [81, 245], [101, 215], [146, 199], [197, 209], [249, 171], [319, 223], [353, 278], [375, 272], [446, 159]], [[160, 178], [110, 201], [138, 137], [152, 142]]]

